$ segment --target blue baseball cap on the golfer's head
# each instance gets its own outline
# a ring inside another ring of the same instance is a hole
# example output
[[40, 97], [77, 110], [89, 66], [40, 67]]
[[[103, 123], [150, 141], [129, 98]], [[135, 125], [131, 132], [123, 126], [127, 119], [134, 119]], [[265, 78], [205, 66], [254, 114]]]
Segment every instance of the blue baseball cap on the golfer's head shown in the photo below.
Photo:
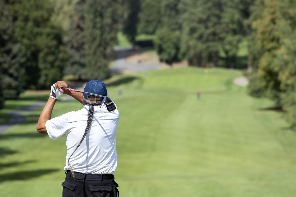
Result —
[[[89, 81], [85, 87], [84, 87], [84, 92], [89, 92], [93, 93], [96, 95], [102, 95], [102, 96], [107, 96], [107, 88], [104, 82], [99, 81], [99, 80], [91, 80]], [[87, 98], [90, 96], [90, 94], [83, 93], [83, 98], [87, 100]], [[100, 101], [104, 99], [104, 97], [99, 97]]]

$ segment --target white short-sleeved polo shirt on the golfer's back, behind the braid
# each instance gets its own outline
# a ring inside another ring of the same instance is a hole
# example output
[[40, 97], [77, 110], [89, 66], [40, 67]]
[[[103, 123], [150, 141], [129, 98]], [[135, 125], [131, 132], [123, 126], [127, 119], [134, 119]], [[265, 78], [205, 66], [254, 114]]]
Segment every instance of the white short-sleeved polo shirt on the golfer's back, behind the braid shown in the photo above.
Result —
[[[104, 113], [99, 105], [94, 106], [91, 127], [78, 149], [70, 158], [75, 172], [85, 174], [114, 174], [117, 167], [116, 129], [119, 112]], [[51, 139], [66, 136], [67, 156], [64, 171], [70, 170], [68, 159], [81, 141], [87, 124], [89, 105], [46, 121], [46, 130]]]

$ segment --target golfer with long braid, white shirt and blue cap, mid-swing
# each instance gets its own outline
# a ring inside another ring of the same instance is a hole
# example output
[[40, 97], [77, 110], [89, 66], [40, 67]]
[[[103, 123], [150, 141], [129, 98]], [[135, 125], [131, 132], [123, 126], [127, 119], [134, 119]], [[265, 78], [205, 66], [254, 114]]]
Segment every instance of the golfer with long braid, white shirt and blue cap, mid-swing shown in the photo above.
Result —
[[[66, 137], [63, 197], [119, 196], [118, 184], [114, 181], [118, 110], [104, 113], [100, 110], [104, 97], [66, 91], [62, 87], [68, 88], [67, 83], [58, 81], [52, 85], [37, 131], [47, 133], [51, 139]], [[107, 96], [106, 86], [99, 80], [89, 81], [84, 92]], [[54, 104], [62, 93], [72, 96], [84, 107], [51, 119]]]

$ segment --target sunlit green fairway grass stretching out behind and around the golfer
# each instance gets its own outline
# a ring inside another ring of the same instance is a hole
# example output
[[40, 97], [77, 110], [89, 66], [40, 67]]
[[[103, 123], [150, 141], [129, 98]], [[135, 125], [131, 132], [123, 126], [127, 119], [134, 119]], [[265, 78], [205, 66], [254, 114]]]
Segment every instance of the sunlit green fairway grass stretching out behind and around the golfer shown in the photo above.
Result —
[[[268, 109], [272, 102], [232, 83], [241, 75], [189, 67], [106, 82], [120, 112], [121, 197], [296, 195], [296, 133], [283, 113]], [[75, 100], [57, 101], [52, 117], [81, 108]], [[0, 196], [62, 196], [65, 137], [37, 133], [41, 110], [0, 135]]]

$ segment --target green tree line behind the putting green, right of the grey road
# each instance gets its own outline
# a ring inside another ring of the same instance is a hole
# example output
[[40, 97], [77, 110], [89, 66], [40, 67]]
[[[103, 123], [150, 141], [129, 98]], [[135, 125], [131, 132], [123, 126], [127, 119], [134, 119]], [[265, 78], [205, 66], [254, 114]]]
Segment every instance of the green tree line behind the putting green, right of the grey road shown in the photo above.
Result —
[[[170, 65], [186, 59], [192, 66], [233, 68], [238, 46], [251, 30], [250, 7], [254, 0], [128, 2], [133, 17], [126, 17], [124, 33], [132, 43], [137, 34], [155, 35], [160, 61]], [[132, 6], [135, 2], [137, 6]]]

